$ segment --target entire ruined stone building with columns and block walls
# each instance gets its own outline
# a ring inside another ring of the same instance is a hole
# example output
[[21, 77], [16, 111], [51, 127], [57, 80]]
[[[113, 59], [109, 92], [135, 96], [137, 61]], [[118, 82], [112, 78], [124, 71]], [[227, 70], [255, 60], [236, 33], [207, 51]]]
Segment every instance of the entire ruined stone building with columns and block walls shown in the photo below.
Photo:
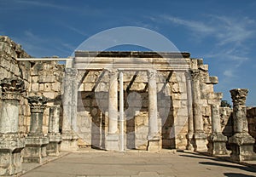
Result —
[[220, 107], [218, 77], [189, 53], [76, 51], [66, 66], [29, 59], [0, 37], [0, 175], [83, 147], [255, 157], [247, 89], [230, 90], [233, 109]]

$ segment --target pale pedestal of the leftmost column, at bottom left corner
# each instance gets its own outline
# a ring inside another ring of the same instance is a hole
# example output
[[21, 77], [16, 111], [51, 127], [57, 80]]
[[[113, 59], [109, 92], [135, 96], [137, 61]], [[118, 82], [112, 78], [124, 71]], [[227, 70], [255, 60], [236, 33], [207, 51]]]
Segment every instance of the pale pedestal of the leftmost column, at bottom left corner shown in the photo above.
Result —
[[25, 147], [25, 139], [14, 134], [0, 136], [0, 176], [10, 176], [22, 172], [20, 151]]

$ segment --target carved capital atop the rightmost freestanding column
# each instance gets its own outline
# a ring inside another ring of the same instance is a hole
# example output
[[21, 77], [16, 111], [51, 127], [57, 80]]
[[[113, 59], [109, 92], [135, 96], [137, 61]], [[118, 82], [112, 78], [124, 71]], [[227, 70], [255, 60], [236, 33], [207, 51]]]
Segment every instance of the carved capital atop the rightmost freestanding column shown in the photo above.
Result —
[[231, 89], [230, 94], [231, 94], [231, 98], [234, 106], [245, 106], [248, 89], [246, 88]]

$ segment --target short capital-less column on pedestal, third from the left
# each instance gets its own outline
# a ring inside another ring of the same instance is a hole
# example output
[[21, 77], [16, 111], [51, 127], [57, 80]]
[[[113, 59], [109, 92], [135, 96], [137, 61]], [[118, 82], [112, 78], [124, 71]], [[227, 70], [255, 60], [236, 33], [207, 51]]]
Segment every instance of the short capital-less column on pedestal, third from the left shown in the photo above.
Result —
[[52, 106], [49, 108], [49, 144], [46, 147], [48, 156], [59, 156], [61, 146], [61, 134], [59, 131], [61, 106]]

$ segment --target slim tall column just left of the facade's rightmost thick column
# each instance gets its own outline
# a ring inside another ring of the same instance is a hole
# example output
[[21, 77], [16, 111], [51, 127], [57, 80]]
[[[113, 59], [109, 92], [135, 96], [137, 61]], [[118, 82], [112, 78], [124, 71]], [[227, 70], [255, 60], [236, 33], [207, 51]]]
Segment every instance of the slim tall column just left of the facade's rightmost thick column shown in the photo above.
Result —
[[188, 134], [187, 134], [187, 146], [186, 149], [193, 151], [194, 150], [194, 123], [193, 123], [193, 110], [192, 110], [192, 88], [191, 88], [191, 76], [189, 72], [185, 73], [186, 75], [186, 85], [187, 85], [187, 100], [188, 100]]

